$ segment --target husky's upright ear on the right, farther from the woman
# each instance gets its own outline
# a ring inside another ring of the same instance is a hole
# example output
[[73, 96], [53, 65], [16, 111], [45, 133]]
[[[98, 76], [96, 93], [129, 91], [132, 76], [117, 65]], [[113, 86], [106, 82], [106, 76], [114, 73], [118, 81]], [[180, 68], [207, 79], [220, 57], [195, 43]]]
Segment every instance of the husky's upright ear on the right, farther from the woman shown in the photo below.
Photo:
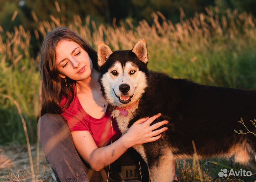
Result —
[[145, 39], [140, 39], [133, 47], [132, 52], [145, 64], [148, 64], [148, 51], [146, 49]]

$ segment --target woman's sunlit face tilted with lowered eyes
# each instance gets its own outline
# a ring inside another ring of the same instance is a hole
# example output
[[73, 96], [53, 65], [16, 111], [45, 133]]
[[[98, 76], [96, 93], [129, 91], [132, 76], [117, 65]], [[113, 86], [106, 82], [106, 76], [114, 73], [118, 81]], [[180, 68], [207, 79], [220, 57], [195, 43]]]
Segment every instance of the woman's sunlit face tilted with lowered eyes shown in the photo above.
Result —
[[90, 77], [92, 61], [76, 42], [61, 40], [56, 46], [56, 67], [60, 77], [79, 81]]

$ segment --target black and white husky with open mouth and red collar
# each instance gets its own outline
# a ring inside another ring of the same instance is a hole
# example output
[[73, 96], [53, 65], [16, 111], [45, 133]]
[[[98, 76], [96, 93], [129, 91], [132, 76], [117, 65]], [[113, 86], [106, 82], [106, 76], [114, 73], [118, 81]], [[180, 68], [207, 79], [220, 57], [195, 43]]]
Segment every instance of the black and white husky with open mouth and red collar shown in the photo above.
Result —
[[114, 51], [98, 45], [99, 78], [103, 96], [114, 106], [113, 116], [122, 133], [138, 119], [161, 113], [153, 122], [168, 120], [169, 130], [150, 143], [134, 146], [146, 161], [151, 181], [174, 180], [175, 159], [192, 158], [196, 146], [199, 159], [234, 156], [241, 164], [256, 160], [256, 137], [247, 128], [256, 118], [256, 91], [207, 86], [147, 69], [146, 42], [132, 50]]

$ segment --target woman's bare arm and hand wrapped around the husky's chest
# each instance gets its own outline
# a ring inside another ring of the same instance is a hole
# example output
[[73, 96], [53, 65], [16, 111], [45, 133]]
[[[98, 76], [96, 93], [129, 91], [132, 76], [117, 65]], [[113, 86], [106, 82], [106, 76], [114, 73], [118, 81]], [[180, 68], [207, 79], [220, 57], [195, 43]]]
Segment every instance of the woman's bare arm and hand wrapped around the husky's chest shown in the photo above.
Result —
[[158, 140], [161, 137], [160, 133], [167, 130], [167, 127], [163, 127], [159, 130], [155, 129], [168, 123], [168, 121], [161, 121], [150, 126], [159, 116], [160, 114], [150, 118], [139, 119], [117, 141], [102, 148], [97, 147], [89, 131], [73, 131], [71, 134], [75, 147], [82, 158], [90, 164], [92, 169], [100, 171], [117, 160], [128, 148], [137, 144]]

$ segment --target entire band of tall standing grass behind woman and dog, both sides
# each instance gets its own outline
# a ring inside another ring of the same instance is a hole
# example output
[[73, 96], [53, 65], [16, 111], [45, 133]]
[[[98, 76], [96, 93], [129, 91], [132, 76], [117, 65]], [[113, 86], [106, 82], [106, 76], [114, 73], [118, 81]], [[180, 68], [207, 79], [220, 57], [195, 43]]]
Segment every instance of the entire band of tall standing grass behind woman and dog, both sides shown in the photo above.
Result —
[[[208, 10], [208, 9], [207, 9]], [[256, 28], [255, 19], [247, 13], [227, 11], [221, 17], [216, 10], [195, 14], [191, 19], [172, 25], [161, 13], [153, 14], [154, 24], [140, 22], [138, 27], [95, 27], [88, 17], [82, 24], [75, 16], [69, 27], [81, 34], [95, 49], [100, 40], [113, 50], [132, 49], [145, 38], [149, 54], [149, 69], [167, 73], [174, 78], [186, 78], [197, 83], [241, 89], [256, 89]], [[162, 19], [162, 23], [159, 23]], [[37, 22], [39, 35], [58, 22]], [[226, 23], [225, 23], [226, 22]], [[93, 27], [93, 29], [91, 29]], [[31, 53], [31, 35], [22, 26], [14, 33], [0, 36], [0, 93], [18, 102], [28, 125], [32, 142], [36, 141], [35, 126], [39, 107], [39, 54]], [[38, 40], [37, 44], [40, 44]], [[0, 97], [0, 143], [23, 143], [24, 132], [14, 103]]]

